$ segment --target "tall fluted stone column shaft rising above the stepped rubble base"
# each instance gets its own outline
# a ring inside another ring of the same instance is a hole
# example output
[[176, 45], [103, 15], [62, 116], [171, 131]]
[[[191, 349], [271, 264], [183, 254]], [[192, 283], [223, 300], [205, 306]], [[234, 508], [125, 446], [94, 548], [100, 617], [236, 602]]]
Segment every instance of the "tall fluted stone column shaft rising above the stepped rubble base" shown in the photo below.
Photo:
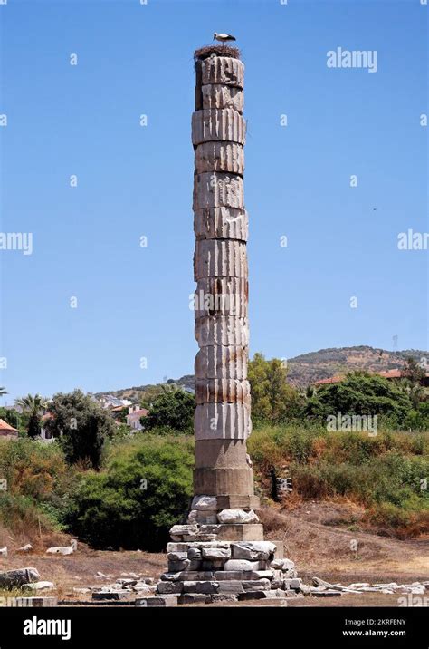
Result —
[[195, 358], [195, 498], [188, 522], [216, 538], [262, 540], [246, 451], [252, 423], [244, 65], [213, 54], [197, 58], [195, 73], [195, 338], [200, 350]]

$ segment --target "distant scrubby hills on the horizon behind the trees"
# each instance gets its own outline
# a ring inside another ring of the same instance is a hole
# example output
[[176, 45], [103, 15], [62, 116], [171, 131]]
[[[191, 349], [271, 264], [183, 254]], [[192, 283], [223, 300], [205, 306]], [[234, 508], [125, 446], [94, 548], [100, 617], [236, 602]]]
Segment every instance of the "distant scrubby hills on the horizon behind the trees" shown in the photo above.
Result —
[[[376, 349], [367, 345], [356, 347], [332, 347], [320, 349], [319, 352], [300, 354], [288, 360], [288, 379], [297, 387], [305, 387], [309, 383], [328, 379], [330, 376], [352, 372], [354, 370], [365, 370], [367, 372], [386, 372], [403, 367], [406, 359], [412, 356], [418, 362], [423, 358], [428, 359], [429, 352], [419, 349], [406, 349], [402, 352], [389, 352], [386, 349]], [[193, 391], [195, 376], [186, 374], [180, 379], [168, 379], [165, 383], [183, 387], [185, 390]], [[138, 385], [122, 390], [109, 392], [97, 392], [94, 396], [100, 398], [110, 394], [119, 399], [129, 399], [138, 402], [149, 388], [153, 385]]]

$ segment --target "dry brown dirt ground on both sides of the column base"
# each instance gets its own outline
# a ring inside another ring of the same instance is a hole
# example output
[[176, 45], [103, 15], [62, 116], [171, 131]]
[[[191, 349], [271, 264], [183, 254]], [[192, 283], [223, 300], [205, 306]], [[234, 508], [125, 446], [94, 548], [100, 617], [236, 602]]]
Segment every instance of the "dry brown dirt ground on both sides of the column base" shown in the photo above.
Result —
[[[265, 537], [283, 542], [284, 556], [295, 562], [298, 575], [306, 584], [311, 584], [313, 576], [343, 586], [352, 582], [410, 584], [429, 580], [428, 538], [399, 540], [350, 530], [349, 526], [344, 526], [344, 520], [350, 518], [350, 507], [348, 504], [307, 502], [292, 510], [262, 509], [260, 516], [266, 527]], [[70, 538], [62, 538], [62, 542], [68, 540]], [[73, 587], [107, 585], [125, 576], [124, 573], [138, 573], [157, 580], [167, 567], [166, 553], [100, 551], [79, 544], [78, 551], [66, 557], [48, 556], [41, 546], [37, 552], [23, 557], [14, 552], [14, 539], [9, 538], [9, 544], [12, 549], [9, 557], [0, 557], [0, 571], [36, 567], [43, 581], [55, 584], [55, 594], [60, 600], [89, 599], [89, 596], [73, 594]], [[0, 530], [0, 547], [3, 545], [7, 545], [7, 539], [5, 530]], [[97, 577], [98, 572], [108, 578]], [[332, 598], [306, 596], [274, 604], [398, 606], [398, 597], [400, 595], [377, 593]], [[224, 605], [273, 605], [273, 602], [257, 600]]]

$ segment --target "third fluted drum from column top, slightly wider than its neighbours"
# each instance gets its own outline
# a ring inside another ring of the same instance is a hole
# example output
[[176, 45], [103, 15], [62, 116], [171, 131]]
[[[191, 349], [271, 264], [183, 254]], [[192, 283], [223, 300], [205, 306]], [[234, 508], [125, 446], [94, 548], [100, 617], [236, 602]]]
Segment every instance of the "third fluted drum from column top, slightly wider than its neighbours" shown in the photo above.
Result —
[[205, 109], [192, 115], [192, 143], [194, 146], [210, 141], [230, 141], [244, 144], [246, 122], [238, 111]]

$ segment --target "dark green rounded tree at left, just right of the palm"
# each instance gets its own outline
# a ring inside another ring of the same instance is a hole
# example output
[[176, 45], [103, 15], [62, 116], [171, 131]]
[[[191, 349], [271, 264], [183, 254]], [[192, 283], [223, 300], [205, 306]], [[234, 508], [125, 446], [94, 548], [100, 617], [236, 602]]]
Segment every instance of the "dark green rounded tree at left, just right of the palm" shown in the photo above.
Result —
[[115, 431], [110, 413], [81, 390], [58, 392], [48, 411], [52, 418], [46, 422], [46, 429], [52, 437], [61, 437], [66, 460], [70, 464], [88, 461], [94, 469], [100, 469], [104, 443]]

